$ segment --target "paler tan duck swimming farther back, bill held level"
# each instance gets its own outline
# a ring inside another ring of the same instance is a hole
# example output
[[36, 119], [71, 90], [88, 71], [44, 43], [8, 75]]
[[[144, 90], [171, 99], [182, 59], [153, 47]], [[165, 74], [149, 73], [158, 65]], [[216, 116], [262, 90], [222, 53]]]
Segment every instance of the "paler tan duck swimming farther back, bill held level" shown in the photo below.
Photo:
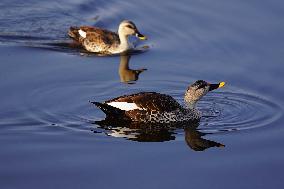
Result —
[[135, 35], [140, 40], [147, 39], [129, 20], [119, 24], [118, 33], [92, 26], [81, 26], [70, 27], [68, 35], [87, 51], [103, 54], [116, 54], [129, 50], [131, 48], [127, 39], [129, 35]]

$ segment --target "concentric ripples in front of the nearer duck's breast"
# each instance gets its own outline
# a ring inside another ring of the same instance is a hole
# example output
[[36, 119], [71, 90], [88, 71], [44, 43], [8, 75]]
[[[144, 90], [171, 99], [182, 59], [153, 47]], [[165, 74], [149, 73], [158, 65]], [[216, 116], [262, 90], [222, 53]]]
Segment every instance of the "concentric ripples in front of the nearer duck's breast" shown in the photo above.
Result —
[[281, 108], [268, 100], [242, 93], [211, 93], [199, 103], [203, 118], [199, 129], [208, 132], [263, 127], [282, 116]]

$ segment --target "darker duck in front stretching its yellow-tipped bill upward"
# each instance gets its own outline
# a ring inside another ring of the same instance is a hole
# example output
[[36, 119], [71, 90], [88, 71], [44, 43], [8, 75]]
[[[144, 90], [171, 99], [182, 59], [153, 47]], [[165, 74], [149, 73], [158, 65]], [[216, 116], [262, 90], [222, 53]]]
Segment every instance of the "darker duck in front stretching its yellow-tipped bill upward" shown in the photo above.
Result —
[[100, 108], [107, 119], [116, 121], [162, 124], [199, 121], [201, 112], [196, 109], [197, 102], [209, 91], [224, 86], [225, 82], [210, 84], [197, 80], [185, 92], [185, 106], [180, 105], [170, 95], [157, 92], [139, 92], [105, 102], [91, 103]]

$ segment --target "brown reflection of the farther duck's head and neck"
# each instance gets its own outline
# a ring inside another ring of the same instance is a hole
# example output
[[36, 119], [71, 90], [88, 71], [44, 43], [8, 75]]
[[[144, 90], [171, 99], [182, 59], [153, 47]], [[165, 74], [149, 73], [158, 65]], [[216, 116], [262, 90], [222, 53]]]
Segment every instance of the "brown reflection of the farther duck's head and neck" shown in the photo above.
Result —
[[127, 84], [134, 84], [134, 81], [137, 81], [139, 75], [146, 71], [147, 69], [141, 68], [137, 70], [132, 70], [129, 68], [129, 60], [131, 56], [128, 54], [123, 54], [120, 56], [120, 64], [118, 73], [120, 76], [120, 81]]

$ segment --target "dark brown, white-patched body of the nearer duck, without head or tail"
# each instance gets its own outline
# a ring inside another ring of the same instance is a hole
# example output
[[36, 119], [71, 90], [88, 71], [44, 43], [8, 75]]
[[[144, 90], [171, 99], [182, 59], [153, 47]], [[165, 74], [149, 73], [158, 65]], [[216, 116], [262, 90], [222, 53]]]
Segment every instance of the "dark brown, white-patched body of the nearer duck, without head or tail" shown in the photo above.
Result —
[[173, 97], [155, 92], [121, 96], [105, 104], [124, 110], [126, 117], [137, 122], [170, 123], [199, 119], [196, 111], [184, 109]]

